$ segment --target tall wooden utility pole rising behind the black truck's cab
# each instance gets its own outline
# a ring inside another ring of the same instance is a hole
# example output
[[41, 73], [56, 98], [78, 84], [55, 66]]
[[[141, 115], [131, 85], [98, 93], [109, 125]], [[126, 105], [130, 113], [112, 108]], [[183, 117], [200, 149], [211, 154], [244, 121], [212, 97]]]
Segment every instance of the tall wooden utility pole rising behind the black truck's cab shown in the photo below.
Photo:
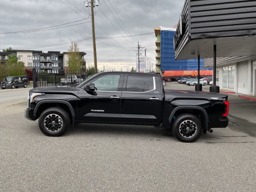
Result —
[[92, 12], [92, 41], [93, 41], [93, 56], [94, 56], [94, 73], [96, 74], [98, 72], [97, 69], [97, 54], [96, 54], [96, 43], [95, 43], [95, 29], [94, 29], [94, 14], [93, 14], [93, 7], [99, 6], [98, 0], [91, 0], [91, 5], [88, 0], [85, 2], [85, 7], [91, 7]]

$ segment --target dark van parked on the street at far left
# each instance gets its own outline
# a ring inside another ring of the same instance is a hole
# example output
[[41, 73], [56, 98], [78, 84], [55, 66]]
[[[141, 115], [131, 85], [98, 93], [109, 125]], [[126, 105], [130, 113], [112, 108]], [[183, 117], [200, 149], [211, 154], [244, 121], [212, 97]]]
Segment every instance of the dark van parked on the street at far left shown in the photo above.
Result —
[[18, 87], [24, 87], [26, 88], [28, 86], [28, 76], [9, 76], [4, 77], [4, 80], [1, 83], [1, 88], [18, 88]]

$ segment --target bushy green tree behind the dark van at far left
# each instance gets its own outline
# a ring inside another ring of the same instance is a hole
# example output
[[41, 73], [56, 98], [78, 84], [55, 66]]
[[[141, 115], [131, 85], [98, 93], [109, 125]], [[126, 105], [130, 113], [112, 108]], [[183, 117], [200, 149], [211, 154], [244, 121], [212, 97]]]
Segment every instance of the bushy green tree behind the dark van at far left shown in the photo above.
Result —
[[5, 65], [8, 76], [26, 75], [23, 69], [25, 67], [25, 63], [22, 61], [18, 62], [18, 57], [16, 55], [8, 55], [8, 60]]

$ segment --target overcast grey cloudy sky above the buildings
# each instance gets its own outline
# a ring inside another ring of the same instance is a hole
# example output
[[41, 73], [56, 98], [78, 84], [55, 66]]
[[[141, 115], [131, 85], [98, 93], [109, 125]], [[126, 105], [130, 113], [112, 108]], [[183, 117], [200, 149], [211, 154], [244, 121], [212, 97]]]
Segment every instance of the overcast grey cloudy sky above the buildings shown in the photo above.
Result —
[[[154, 27], [178, 23], [184, 1], [100, 0], [94, 8], [98, 69], [130, 70], [136, 66], [138, 42], [156, 63]], [[67, 52], [76, 42], [94, 65], [91, 9], [84, 0], [5, 0], [0, 7], [0, 51]]]

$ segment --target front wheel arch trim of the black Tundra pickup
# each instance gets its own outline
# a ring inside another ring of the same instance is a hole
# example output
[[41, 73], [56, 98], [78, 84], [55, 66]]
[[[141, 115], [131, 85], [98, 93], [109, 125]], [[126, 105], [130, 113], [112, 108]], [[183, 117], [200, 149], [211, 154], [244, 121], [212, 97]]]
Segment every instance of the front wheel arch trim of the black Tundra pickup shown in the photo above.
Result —
[[40, 116], [40, 114], [47, 108], [51, 107], [60, 107], [66, 110], [71, 119], [75, 118], [75, 112], [68, 101], [65, 100], [42, 100], [36, 104], [34, 109], [34, 115], [36, 119]]

